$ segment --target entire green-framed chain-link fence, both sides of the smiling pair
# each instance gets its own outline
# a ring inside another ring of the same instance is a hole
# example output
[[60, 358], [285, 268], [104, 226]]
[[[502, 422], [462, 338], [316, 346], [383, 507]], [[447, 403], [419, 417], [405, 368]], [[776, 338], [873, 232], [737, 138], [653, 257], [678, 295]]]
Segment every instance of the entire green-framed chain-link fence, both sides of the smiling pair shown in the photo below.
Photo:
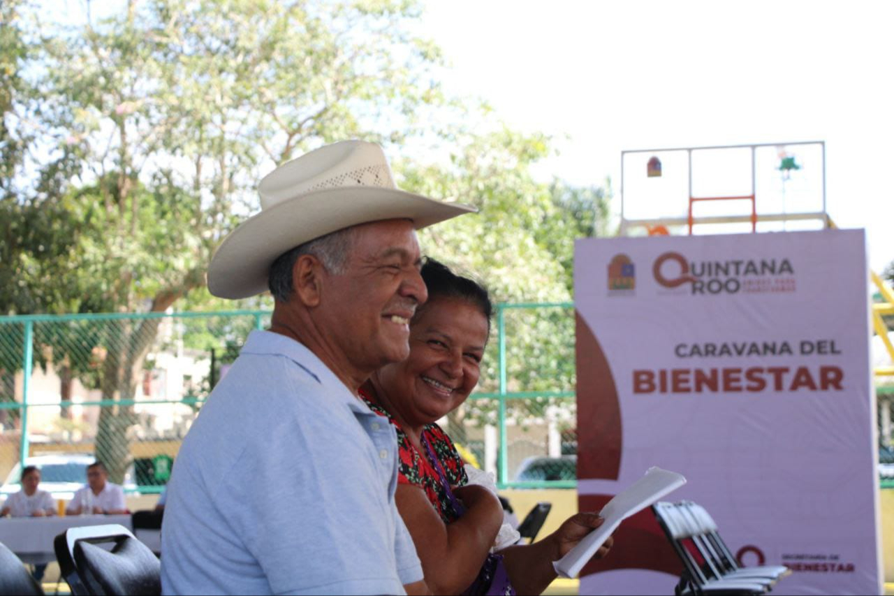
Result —
[[[182, 438], [267, 311], [0, 318], [0, 479], [21, 454], [82, 482], [162, 490]], [[573, 487], [571, 304], [501, 304], [476, 394], [443, 420], [463, 456], [505, 487]], [[74, 465], [73, 463], [77, 463]], [[55, 466], [55, 467], [53, 467]], [[67, 472], [66, 472], [67, 470]]]

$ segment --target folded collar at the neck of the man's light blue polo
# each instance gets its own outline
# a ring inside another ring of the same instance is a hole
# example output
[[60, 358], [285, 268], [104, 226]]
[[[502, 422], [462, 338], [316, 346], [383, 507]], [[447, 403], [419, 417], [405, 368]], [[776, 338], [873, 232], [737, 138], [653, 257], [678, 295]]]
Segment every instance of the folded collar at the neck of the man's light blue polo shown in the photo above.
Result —
[[307, 345], [301, 344], [291, 337], [273, 331], [256, 329], [249, 334], [240, 353], [284, 356], [307, 370], [320, 385], [331, 388], [332, 391], [327, 392], [328, 396], [347, 404], [355, 412], [377, 415], [362, 399], [351, 393], [342, 379], [335, 376], [335, 373], [319, 359], [316, 353], [311, 352]]

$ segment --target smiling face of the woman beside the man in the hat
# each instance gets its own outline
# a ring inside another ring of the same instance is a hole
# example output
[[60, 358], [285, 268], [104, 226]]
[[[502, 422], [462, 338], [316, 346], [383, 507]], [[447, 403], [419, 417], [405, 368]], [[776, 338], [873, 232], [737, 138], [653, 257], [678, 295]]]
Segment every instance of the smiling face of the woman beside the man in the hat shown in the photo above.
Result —
[[487, 319], [474, 304], [433, 298], [409, 328], [409, 357], [379, 370], [392, 406], [409, 424], [428, 424], [466, 401], [478, 383]]

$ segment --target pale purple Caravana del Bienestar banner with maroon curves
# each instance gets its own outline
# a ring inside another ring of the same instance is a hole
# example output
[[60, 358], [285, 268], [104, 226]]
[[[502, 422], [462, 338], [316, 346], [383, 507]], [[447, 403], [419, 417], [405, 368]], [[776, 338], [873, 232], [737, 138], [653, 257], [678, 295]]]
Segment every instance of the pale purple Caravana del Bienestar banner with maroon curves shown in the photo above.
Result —
[[[876, 415], [862, 230], [578, 241], [578, 498], [658, 465], [688, 483], [774, 592], [881, 593]], [[581, 594], [672, 594], [651, 511]]]

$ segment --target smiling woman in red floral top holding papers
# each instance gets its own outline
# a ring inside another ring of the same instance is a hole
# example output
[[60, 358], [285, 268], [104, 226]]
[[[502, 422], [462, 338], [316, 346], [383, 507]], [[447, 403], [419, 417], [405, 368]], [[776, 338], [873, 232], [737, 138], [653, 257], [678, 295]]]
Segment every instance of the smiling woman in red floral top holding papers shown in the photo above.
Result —
[[437, 261], [428, 260], [421, 273], [428, 302], [410, 322], [409, 357], [376, 370], [360, 392], [397, 430], [398, 511], [435, 594], [543, 592], [555, 578], [552, 561], [602, 519], [574, 515], [532, 545], [513, 544], [517, 533], [502, 539], [511, 532], [501, 532], [496, 494], [469, 481], [451, 438], [435, 422], [476, 387], [493, 307], [484, 287]]

